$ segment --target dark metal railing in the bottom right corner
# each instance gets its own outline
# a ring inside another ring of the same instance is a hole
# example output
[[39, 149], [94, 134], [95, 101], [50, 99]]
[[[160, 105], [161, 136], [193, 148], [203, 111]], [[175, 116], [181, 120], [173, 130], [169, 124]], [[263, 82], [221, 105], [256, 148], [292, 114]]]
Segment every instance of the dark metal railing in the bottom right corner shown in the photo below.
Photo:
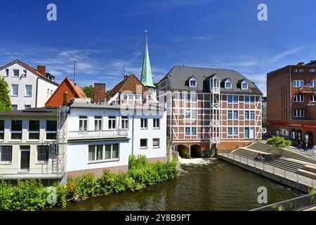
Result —
[[316, 206], [316, 193], [303, 195], [280, 203], [259, 207], [250, 211], [302, 211]]

